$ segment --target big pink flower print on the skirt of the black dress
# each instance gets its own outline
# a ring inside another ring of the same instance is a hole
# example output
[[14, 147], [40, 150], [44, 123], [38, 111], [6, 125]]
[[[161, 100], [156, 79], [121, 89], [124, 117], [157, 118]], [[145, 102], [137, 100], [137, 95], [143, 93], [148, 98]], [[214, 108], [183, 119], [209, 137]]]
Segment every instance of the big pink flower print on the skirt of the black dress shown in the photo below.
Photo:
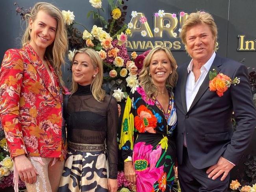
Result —
[[139, 192], [152, 191], [154, 183], [163, 173], [163, 166], [156, 167], [162, 148], [160, 145], [156, 150], [152, 150], [152, 148], [152, 145], [145, 145], [145, 142], [138, 142], [134, 145], [132, 159], [136, 173], [136, 188]]

